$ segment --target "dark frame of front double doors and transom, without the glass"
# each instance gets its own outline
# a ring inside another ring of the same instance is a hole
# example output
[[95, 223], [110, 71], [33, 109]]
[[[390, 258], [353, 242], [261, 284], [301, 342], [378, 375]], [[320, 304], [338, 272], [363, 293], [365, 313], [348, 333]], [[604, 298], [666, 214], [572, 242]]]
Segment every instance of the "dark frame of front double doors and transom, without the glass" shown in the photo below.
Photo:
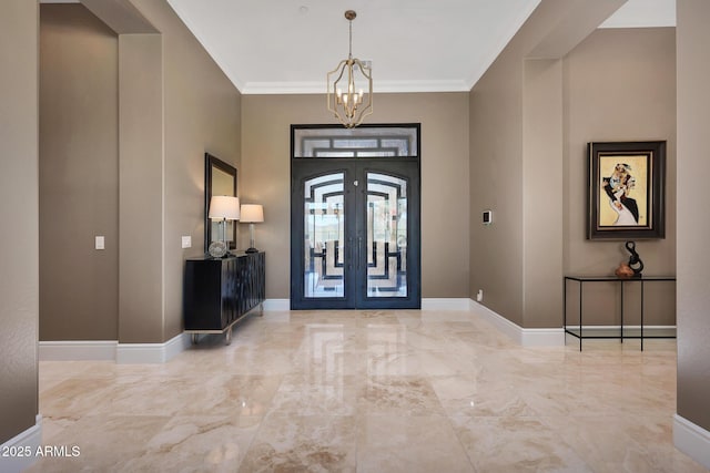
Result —
[[[298, 125], [292, 126], [297, 127]], [[306, 125], [318, 127], [317, 125]], [[382, 125], [371, 125], [382, 126]], [[402, 125], [386, 125], [402, 126]], [[417, 135], [418, 135], [418, 125]], [[323, 126], [329, 127], [329, 126]], [[292, 134], [293, 140], [293, 134]], [[418, 143], [418, 136], [417, 136]], [[332, 173], [344, 173], [345, 233], [348, 248], [343, 255], [344, 297], [304, 297], [305, 254], [303, 189], [308, 178]], [[405, 297], [367, 297], [367, 258], [365, 256], [367, 222], [368, 172], [406, 178], [407, 184], [407, 251]], [[418, 309], [422, 307], [420, 285], [420, 165], [418, 157], [372, 158], [294, 158], [292, 142], [291, 164], [291, 308], [298, 309]], [[362, 183], [359, 185], [355, 182]]]

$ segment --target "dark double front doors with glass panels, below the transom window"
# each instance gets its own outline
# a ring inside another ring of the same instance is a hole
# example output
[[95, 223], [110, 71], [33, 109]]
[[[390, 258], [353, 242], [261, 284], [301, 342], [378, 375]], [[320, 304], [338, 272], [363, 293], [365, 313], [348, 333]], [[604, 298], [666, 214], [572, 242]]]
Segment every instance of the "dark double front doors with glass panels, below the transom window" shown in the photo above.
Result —
[[292, 162], [292, 309], [419, 308], [419, 162]]

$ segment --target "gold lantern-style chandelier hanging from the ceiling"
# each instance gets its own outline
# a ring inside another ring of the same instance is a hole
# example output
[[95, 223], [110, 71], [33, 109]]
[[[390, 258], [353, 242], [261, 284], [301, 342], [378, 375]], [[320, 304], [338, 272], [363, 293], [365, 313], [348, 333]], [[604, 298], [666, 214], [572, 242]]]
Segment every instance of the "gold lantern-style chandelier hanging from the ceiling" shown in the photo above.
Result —
[[345, 12], [351, 30], [349, 52], [326, 78], [328, 111], [347, 128], [359, 125], [373, 113], [372, 66], [353, 58], [353, 20], [356, 16], [353, 10]]

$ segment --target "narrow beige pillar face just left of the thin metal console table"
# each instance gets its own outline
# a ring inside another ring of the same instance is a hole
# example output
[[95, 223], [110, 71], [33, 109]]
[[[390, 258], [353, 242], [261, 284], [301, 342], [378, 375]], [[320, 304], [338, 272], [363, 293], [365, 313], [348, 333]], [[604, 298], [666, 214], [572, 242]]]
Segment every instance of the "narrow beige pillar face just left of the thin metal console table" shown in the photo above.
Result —
[[560, 323], [562, 268], [562, 61], [523, 68], [523, 317], [525, 327]]

